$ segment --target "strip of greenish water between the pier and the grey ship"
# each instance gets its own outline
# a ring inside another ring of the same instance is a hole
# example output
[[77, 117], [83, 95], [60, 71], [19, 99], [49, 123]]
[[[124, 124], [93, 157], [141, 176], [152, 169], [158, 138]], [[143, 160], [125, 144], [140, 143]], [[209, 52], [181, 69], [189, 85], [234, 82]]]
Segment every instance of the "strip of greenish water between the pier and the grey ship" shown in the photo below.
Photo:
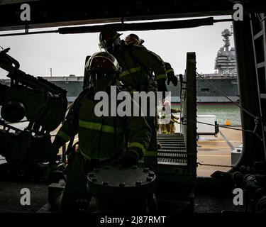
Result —
[[[179, 109], [179, 105], [174, 105], [172, 108]], [[231, 126], [240, 126], [240, 109], [235, 105], [197, 105], [197, 115], [216, 115], [217, 123], [220, 125], [230, 121]]]

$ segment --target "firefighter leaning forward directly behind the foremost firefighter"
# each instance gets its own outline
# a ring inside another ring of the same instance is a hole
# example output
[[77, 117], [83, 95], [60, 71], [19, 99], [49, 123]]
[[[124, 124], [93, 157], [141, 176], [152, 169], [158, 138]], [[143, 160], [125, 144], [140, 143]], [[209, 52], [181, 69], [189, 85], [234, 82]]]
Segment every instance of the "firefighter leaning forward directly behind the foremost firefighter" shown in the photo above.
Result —
[[[162, 59], [141, 45], [126, 45], [120, 39], [120, 35], [111, 28], [101, 31], [99, 46], [118, 60], [122, 70], [119, 79], [123, 88], [131, 94], [133, 92], [167, 92], [165, 84], [167, 76]], [[148, 106], [141, 106], [141, 108], [149, 110], [149, 105], [148, 103]], [[156, 106], [152, 108], [156, 109]], [[148, 112], [146, 121], [152, 130], [150, 145], [145, 155], [145, 164], [148, 166], [157, 164], [156, 120], [156, 117], [150, 116]]]

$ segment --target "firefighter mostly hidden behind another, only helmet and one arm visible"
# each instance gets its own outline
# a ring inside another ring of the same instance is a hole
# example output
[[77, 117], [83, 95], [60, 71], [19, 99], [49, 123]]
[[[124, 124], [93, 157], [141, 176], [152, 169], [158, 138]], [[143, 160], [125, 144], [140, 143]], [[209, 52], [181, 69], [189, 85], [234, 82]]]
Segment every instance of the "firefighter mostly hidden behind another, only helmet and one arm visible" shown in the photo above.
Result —
[[[135, 35], [135, 34], [129, 34], [125, 38], [126, 45], [142, 45], [143, 46], [143, 43], [144, 43], [144, 40], [140, 39], [138, 35]], [[177, 86], [178, 80], [177, 80], [177, 77], [174, 76], [174, 69], [172, 68], [169, 62], [165, 62], [165, 70], [167, 74], [167, 85], [170, 85], [170, 82], [172, 82], [174, 86]]]

